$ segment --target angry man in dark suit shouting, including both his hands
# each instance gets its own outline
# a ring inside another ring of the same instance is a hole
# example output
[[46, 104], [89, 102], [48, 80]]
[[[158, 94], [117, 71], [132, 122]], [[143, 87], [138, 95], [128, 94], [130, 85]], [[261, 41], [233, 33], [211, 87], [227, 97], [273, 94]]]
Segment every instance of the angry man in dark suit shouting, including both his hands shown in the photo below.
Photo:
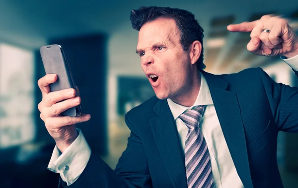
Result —
[[[204, 72], [203, 29], [188, 11], [141, 7], [131, 21], [139, 30], [136, 52], [156, 96], [126, 114], [131, 136], [115, 171], [75, 129], [89, 114], [58, 116], [80, 103], [74, 90], [50, 92], [56, 75], [38, 82], [40, 116], [57, 143], [49, 169], [60, 173], [59, 187], [283, 187], [277, 133], [298, 132], [298, 88], [275, 83], [260, 68]], [[298, 70], [298, 36], [285, 19], [266, 15], [227, 29], [251, 32], [249, 51], [281, 55]]]

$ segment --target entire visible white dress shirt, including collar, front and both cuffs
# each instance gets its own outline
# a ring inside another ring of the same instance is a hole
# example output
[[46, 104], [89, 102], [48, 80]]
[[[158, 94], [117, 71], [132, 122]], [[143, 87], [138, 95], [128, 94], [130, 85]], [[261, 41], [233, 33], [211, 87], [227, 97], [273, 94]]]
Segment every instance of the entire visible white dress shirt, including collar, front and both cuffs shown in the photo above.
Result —
[[[283, 60], [294, 70], [298, 70], [298, 55]], [[201, 120], [201, 129], [210, 153], [215, 184], [219, 188], [243, 188], [224, 140], [223, 131], [213, 105], [209, 87], [204, 76], [202, 74], [201, 76], [201, 89], [194, 106], [206, 104], [206, 110]], [[167, 99], [167, 101], [173, 117], [175, 118], [181, 147], [184, 149], [188, 129], [180, 118], [177, 117], [188, 108], [176, 104], [170, 99]], [[60, 173], [62, 180], [65, 181], [68, 186], [78, 179], [85, 169], [91, 155], [90, 147], [82, 132], [79, 129], [77, 129], [77, 131], [78, 137], [64, 153], [61, 154], [57, 145], [55, 146], [48, 165], [49, 170]]]

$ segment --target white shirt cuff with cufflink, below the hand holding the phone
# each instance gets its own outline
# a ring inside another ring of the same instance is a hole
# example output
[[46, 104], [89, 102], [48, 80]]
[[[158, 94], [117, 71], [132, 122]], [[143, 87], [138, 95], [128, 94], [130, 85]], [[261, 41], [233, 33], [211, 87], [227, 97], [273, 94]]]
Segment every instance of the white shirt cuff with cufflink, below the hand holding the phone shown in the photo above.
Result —
[[48, 165], [48, 169], [59, 173], [68, 186], [73, 184], [83, 172], [91, 155], [91, 149], [82, 132], [79, 129], [76, 130], [77, 138], [64, 153], [61, 153], [57, 145], [55, 146]]

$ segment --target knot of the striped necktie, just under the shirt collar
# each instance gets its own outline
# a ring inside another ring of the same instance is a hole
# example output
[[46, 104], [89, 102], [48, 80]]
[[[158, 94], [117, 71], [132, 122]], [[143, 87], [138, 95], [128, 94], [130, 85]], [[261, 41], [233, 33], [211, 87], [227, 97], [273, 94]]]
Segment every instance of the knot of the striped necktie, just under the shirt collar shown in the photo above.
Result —
[[204, 108], [205, 105], [195, 106], [191, 110], [183, 112], [179, 118], [185, 123], [188, 129], [199, 127]]

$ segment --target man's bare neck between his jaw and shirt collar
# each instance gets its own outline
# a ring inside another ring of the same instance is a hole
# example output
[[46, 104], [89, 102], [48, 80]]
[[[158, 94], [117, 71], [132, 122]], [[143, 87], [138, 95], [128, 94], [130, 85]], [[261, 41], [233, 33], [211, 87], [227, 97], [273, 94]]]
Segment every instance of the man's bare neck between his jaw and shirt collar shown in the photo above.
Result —
[[171, 97], [170, 99], [182, 106], [192, 106], [199, 94], [201, 88], [201, 75], [199, 71], [195, 71], [193, 79], [189, 83], [185, 83], [185, 86], [181, 89], [181, 92]]

